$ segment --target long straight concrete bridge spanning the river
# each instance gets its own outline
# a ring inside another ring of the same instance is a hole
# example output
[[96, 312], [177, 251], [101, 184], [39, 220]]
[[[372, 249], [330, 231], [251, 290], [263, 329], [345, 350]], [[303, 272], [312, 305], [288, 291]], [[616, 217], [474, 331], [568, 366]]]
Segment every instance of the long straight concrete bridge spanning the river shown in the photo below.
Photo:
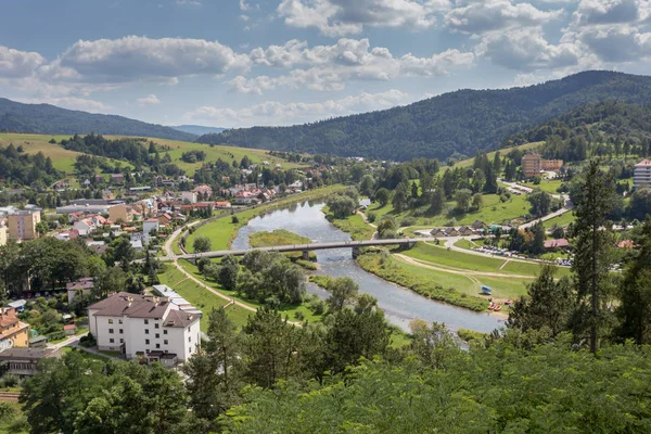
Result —
[[[357, 257], [359, 255], [359, 250], [362, 247], [372, 247], [378, 245], [399, 245], [403, 250], [408, 250], [413, 247], [413, 245], [419, 241], [435, 241], [434, 238], [399, 238], [392, 240], [368, 240], [368, 241], [335, 241], [329, 243], [310, 243], [310, 244], [293, 244], [293, 245], [275, 245], [271, 247], [258, 247], [258, 248], [243, 248], [243, 250], [232, 250], [232, 251], [216, 251], [216, 252], [204, 252], [204, 253], [190, 253], [186, 255], [177, 255], [175, 256], [177, 259], [189, 259], [195, 260], [200, 258], [218, 258], [228, 255], [232, 256], [244, 256], [248, 252], [260, 251], [260, 252], [302, 252], [303, 257], [305, 259], [309, 259], [309, 252], [312, 251], [321, 251], [327, 248], [352, 248], [353, 257]], [[165, 260], [166, 258], [161, 258]]]

